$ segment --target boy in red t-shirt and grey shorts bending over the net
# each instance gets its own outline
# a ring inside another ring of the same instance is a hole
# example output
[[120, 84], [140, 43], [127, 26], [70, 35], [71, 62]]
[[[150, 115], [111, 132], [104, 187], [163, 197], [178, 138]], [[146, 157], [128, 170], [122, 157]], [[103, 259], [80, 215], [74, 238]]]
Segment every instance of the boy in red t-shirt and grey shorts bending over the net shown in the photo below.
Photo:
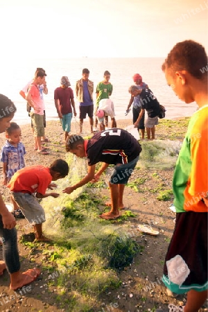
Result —
[[37, 241], [50, 241], [42, 234], [42, 223], [46, 219], [44, 209], [37, 198], [49, 196], [57, 198], [59, 193], [46, 193], [46, 189], [56, 187], [56, 184], [51, 184], [51, 181], [62, 179], [68, 173], [67, 162], [57, 159], [49, 168], [37, 165], [20, 169], [12, 176], [8, 184], [12, 198], [21, 207], [28, 222], [33, 225]]

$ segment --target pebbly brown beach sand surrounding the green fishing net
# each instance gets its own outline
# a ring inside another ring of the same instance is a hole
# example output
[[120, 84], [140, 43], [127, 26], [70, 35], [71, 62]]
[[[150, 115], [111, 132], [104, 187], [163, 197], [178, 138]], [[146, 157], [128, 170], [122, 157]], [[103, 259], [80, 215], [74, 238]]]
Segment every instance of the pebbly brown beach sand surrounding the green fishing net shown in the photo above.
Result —
[[[187, 121], [188, 119], [178, 121], [167, 121], [163, 119], [157, 126], [157, 139], [182, 141], [184, 132], [187, 129]], [[118, 128], [125, 128], [130, 124], [132, 124], [130, 119], [117, 121]], [[76, 132], [76, 127], [78, 125], [73, 123], [72, 132]], [[49, 166], [54, 159], [64, 159], [66, 155], [63, 144], [64, 134], [59, 121], [49, 121], [46, 126], [46, 137], [49, 139], [49, 143], [45, 146], [49, 148], [49, 155], [38, 155], [35, 152], [31, 125], [21, 125], [21, 130], [22, 142], [26, 147], [25, 159], [27, 166], [34, 164]], [[89, 134], [89, 123], [87, 121], [84, 123], [83, 130], [86, 134]], [[1, 146], [4, 144], [4, 141], [5, 136], [1, 134]], [[168, 297], [160, 279], [162, 277], [164, 257], [173, 233], [175, 214], [169, 209], [169, 206], [173, 202], [173, 196], [170, 196], [170, 198], [164, 201], [157, 200], [159, 194], [158, 186], [163, 190], [171, 189], [172, 177], [173, 167], [166, 170], [140, 168], [130, 178], [130, 182], [138, 181], [138, 179], [144, 181], [144, 184], [138, 184], [140, 191], [131, 187], [125, 188], [125, 204], [128, 210], [135, 214], [135, 217], [123, 221], [120, 227], [129, 228], [130, 233], [134, 234], [132, 239], [135, 239], [142, 246], [142, 251], [135, 256], [130, 266], [125, 267], [120, 272], [116, 272], [119, 281], [121, 281], [118, 286], [107, 288], [107, 291], [103, 291], [98, 295], [95, 294], [96, 299], [94, 299], [94, 304], [92, 305], [90, 305], [91, 300], [89, 298], [88, 309], [81, 309], [76, 306], [76, 303], [72, 309], [70, 307], [71, 299], [69, 299], [71, 298], [70, 289], [61, 293], [60, 288], [55, 284], [50, 284], [49, 281], [49, 271], [46, 270], [46, 266], [55, 270], [56, 260], [51, 259], [44, 253], [46, 250], [52, 252], [54, 249], [53, 244], [38, 243], [38, 245], [33, 245], [33, 248], [30, 248], [29, 245], [19, 242], [21, 268], [26, 270], [37, 266], [42, 270], [42, 275], [40, 279], [31, 284], [30, 291], [25, 293], [17, 291], [14, 295], [13, 291], [9, 291], [8, 273], [5, 271], [3, 276], [0, 277], [1, 311], [146, 312], [155, 311], [154, 309], [159, 306], [166, 307], [169, 302], [175, 305], [185, 302], [185, 295], [180, 295], [177, 299]], [[1, 186], [0, 191], [4, 200], [7, 202], [10, 201], [8, 190]], [[101, 198], [100, 192], [102, 192], [102, 196], [109, 198], [109, 191], [107, 189], [98, 189], [98, 198]], [[100, 209], [103, 209], [102, 205]], [[139, 223], [149, 224], [150, 222], [159, 231], [158, 236], [143, 235], [137, 230]], [[17, 219], [19, 239], [21, 239], [23, 234], [30, 232], [26, 225], [27, 222], [25, 219]], [[2, 257], [2, 252], [0, 254], [0, 257]], [[6, 297], [11, 298], [11, 296], [13, 296], [12, 299], [6, 301]], [[84, 300], [81, 295], [78, 296], [80, 296], [78, 302]], [[200, 311], [207, 310], [200, 309]]]

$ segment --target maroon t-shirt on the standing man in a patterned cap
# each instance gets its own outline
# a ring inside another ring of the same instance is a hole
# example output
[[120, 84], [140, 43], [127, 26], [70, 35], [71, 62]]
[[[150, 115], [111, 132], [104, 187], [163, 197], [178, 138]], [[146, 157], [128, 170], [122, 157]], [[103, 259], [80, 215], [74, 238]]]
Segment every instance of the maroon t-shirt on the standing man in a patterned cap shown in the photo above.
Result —
[[60, 112], [65, 115], [72, 112], [71, 98], [73, 98], [73, 91], [70, 87], [58, 87], [54, 91], [54, 100], [59, 101]]

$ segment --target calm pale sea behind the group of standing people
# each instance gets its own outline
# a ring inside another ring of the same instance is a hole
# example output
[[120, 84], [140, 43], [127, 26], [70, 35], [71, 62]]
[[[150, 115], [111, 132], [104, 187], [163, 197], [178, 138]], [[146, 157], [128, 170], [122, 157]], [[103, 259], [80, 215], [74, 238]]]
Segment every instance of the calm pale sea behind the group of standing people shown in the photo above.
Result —
[[[130, 100], [128, 87], [133, 84], [132, 76], [140, 73], [143, 81], [148, 84], [150, 89], [157, 97], [160, 104], [166, 107], [166, 118], [173, 119], [178, 116], [191, 116], [196, 111], [196, 103], [189, 105], [182, 103], [173, 90], [166, 85], [164, 73], [161, 70], [163, 58], [69, 58], [69, 59], [36, 59], [36, 60], [0, 60], [1, 66], [1, 94], [5, 94], [14, 101], [17, 106], [15, 119], [19, 124], [30, 121], [26, 112], [26, 102], [19, 95], [21, 90], [29, 80], [33, 78], [36, 67], [43, 67], [46, 70], [47, 85], [49, 94], [44, 96], [46, 104], [47, 119], [58, 119], [55, 110], [53, 92], [60, 86], [60, 78], [68, 76], [71, 88], [75, 88], [76, 80], [81, 78], [83, 68], [87, 67], [90, 71], [89, 79], [96, 85], [103, 79], [105, 70], [111, 73], [111, 83], [114, 87], [111, 96], [114, 102], [116, 119], [132, 118], [132, 111], [128, 116], [124, 112]], [[96, 94], [94, 93], [94, 100]], [[75, 97], [76, 101], [76, 97]], [[78, 102], [76, 101], [78, 112]]]

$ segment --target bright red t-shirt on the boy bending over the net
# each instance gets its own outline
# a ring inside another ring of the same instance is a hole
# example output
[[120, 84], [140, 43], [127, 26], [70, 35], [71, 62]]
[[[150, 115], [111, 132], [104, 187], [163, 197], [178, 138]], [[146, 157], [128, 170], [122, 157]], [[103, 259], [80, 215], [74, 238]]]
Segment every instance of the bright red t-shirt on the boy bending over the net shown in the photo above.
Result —
[[49, 168], [29, 166], [18, 170], [11, 178], [8, 188], [12, 192], [41, 193], [44, 195], [52, 181]]

